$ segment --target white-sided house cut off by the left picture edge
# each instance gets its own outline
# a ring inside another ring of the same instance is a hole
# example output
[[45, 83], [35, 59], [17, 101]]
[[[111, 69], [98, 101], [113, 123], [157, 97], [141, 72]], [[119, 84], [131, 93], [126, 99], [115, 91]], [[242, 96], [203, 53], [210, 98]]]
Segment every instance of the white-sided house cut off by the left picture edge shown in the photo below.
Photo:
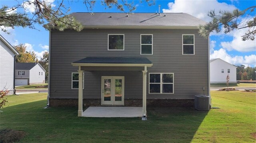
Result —
[[0, 90], [9, 90], [9, 94], [14, 94], [15, 55], [19, 53], [0, 35]]

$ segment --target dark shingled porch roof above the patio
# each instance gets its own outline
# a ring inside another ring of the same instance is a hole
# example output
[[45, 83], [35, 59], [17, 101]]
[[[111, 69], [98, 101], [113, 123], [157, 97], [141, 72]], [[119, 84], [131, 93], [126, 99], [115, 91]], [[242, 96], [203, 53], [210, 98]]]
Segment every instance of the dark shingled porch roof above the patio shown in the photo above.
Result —
[[141, 57], [86, 57], [74, 63], [152, 64], [147, 58]]

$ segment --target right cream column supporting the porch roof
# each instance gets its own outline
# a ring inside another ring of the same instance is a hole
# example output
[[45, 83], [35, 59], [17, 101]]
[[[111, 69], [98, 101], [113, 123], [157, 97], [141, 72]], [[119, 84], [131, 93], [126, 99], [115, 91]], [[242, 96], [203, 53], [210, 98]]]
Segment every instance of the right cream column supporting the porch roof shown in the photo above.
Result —
[[142, 71], [142, 74], [143, 74], [143, 98], [142, 98], [142, 102], [143, 102], [143, 105], [142, 105], [142, 115], [143, 116], [146, 116], [147, 114], [147, 111], [146, 111], [146, 100], [147, 100], [147, 67], [145, 66], [144, 67], [144, 71]]

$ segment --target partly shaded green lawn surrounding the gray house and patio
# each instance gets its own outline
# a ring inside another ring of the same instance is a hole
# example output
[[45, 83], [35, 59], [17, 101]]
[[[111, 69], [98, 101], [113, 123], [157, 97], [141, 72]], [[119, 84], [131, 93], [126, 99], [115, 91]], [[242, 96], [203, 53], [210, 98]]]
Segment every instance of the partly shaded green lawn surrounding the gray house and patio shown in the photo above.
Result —
[[77, 108], [47, 108], [46, 93], [8, 96], [0, 113], [0, 128], [26, 132], [22, 143], [255, 142], [255, 93], [212, 91], [212, 106], [220, 109], [147, 108], [141, 118], [82, 118]]

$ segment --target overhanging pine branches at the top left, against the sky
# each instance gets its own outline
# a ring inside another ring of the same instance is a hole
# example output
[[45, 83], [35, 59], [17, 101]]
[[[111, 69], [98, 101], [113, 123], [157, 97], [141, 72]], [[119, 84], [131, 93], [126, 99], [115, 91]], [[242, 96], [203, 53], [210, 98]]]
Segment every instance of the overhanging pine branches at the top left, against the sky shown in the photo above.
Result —
[[[72, 2], [72, 0], [70, 0]], [[56, 6], [51, 6], [48, 0], [23, 0], [22, 3], [16, 1], [17, 4], [8, 7], [2, 6], [0, 8], [0, 25], [5, 27], [29, 27], [36, 29], [34, 24], [46, 24], [44, 27], [50, 30], [50, 26], [63, 31], [67, 28], [73, 28], [76, 31], [81, 31], [83, 29], [82, 24], [80, 24], [72, 15], [69, 15], [70, 8], [64, 6], [64, 0], [58, 2]], [[79, 2], [79, 1], [78, 1]], [[140, 1], [142, 2], [142, 0]], [[154, 0], [144, 0], [149, 6], [154, 4]], [[84, 5], [87, 10], [92, 10], [96, 0], [83, 0]], [[128, 0], [101, 0], [102, 5], [105, 8], [112, 8], [115, 6], [118, 10], [125, 12], [126, 9], [132, 12], [136, 9], [133, 2]], [[26, 7], [34, 8], [32, 12], [32, 17], [29, 17], [25, 12]], [[23, 12], [20, 12], [23, 9]], [[126, 11], [126, 12], [128, 12]], [[8, 31], [1, 27], [2, 31], [8, 33]]]

